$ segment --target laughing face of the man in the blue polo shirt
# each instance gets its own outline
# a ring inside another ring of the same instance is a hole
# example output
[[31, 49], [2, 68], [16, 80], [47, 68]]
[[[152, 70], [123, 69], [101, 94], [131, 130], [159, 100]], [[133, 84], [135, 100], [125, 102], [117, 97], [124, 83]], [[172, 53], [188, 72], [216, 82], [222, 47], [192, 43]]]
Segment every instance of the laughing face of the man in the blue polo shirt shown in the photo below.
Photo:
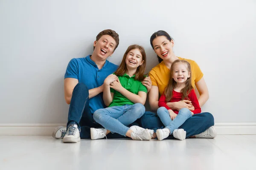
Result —
[[105, 60], [113, 54], [116, 41], [110, 35], [102, 35], [98, 41], [94, 41], [93, 46], [95, 47], [93, 53]]

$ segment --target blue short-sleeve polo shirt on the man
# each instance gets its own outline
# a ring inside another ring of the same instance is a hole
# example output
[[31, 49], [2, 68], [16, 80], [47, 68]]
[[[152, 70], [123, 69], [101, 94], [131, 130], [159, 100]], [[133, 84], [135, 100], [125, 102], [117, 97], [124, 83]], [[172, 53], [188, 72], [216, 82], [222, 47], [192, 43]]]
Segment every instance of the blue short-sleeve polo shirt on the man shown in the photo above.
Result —
[[[101, 86], [108, 75], [116, 71], [118, 65], [106, 60], [102, 69], [99, 69], [90, 55], [84, 58], [73, 58], [67, 65], [64, 78], [78, 79], [78, 82], [84, 83], [89, 89]], [[97, 109], [106, 108], [103, 102], [103, 93], [89, 99], [90, 111], [93, 114]]]

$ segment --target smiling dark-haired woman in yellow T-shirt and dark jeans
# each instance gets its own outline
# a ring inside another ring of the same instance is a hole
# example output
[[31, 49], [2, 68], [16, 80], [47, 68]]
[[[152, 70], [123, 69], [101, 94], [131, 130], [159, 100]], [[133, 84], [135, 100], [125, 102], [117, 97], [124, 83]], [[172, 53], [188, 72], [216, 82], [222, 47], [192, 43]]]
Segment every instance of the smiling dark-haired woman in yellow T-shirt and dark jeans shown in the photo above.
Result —
[[[198, 98], [199, 105], [202, 107], [209, 98], [207, 85], [204, 81], [203, 73], [201, 72], [197, 63], [190, 59], [184, 59], [177, 57], [173, 52], [174, 41], [172, 37], [166, 31], [157, 31], [152, 34], [150, 38], [150, 43], [155, 53], [157, 54], [160, 64], [152, 68], [149, 72], [149, 77], [152, 81], [152, 87], [149, 91], [149, 105], [152, 111], [157, 111], [158, 109], [158, 99], [159, 95], [162, 95], [164, 89], [166, 88], [169, 81], [169, 74], [172, 62], [177, 59], [186, 60], [191, 65], [192, 70], [192, 86], [198, 89], [200, 97]], [[182, 100], [179, 102], [168, 102], [167, 105], [173, 110], [179, 111], [182, 108], [188, 108], [193, 111], [195, 108], [189, 100]], [[145, 112], [141, 117], [141, 124], [143, 128], [157, 129], [164, 128], [163, 123], [157, 114], [153, 112]], [[214, 118], [211, 113], [199, 113], [187, 119], [179, 128], [186, 131], [186, 138], [196, 137], [196, 138], [214, 138], [216, 136], [216, 131], [213, 127]], [[156, 137], [154, 133], [153, 138]], [[173, 136], [169, 136], [168, 139], [172, 139]]]

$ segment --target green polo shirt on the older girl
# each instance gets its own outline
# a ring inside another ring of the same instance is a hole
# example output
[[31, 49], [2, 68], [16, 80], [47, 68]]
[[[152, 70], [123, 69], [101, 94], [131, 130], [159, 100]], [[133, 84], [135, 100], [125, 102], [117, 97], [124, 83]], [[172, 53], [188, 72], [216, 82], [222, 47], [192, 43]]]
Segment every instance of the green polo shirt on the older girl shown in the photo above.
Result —
[[[130, 91], [133, 94], [138, 94], [139, 91], [144, 91], [145, 93], [148, 92], [147, 88], [139, 81], [135, 80], [135, 75], [132, 77], [129, 77], [126, 73], [123, 76], [118, 76], [118, 79], [126, 90]], [[110, 88], [110, 91], [114, 93], [113, 101], [108, 107], [112, 106], [123, 106], [123, 105], [134, 105], [134, 102], [127, 99], [125, 96], [123, 96], [118, 91], [114, 90], [113, 88]]]

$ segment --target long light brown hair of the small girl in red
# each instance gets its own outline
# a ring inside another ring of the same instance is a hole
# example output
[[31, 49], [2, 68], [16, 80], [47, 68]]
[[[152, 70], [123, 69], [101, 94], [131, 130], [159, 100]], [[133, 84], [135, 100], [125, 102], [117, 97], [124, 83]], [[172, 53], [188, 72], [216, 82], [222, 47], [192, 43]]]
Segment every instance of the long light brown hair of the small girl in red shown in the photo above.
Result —
[[189, 62], [187, 62], [186, 60], [177, 59], [172, 63], [171, 71], [170, 71], [170, 79], [169, 79], [168, 85], [166, 86], [166, 89], [164, 90], [164, 95], [166, 96], [166, 102], [170, 102], [170, 100], [172, 99], [172, 91], [173, 91], [173, 89], [175, 89], [176, 84], [177, 84], [177, 82], [175, 82], [175, 80], [172, 77], [173, 77], [174, 67], [179, 62], [186, 64], [187, 70], [188, 70], [188, 72], [190, 72], [190, 77], [186, 80], [185, 87], [180, 92], [181, 100], [184, 100], [185, 98], [189, 99], [188, 95], [189, 95], [190, 91], [193, 89], [193, 86], [191, 83], [191, 77], [192, 77], [191, 66], [190, 66]]

